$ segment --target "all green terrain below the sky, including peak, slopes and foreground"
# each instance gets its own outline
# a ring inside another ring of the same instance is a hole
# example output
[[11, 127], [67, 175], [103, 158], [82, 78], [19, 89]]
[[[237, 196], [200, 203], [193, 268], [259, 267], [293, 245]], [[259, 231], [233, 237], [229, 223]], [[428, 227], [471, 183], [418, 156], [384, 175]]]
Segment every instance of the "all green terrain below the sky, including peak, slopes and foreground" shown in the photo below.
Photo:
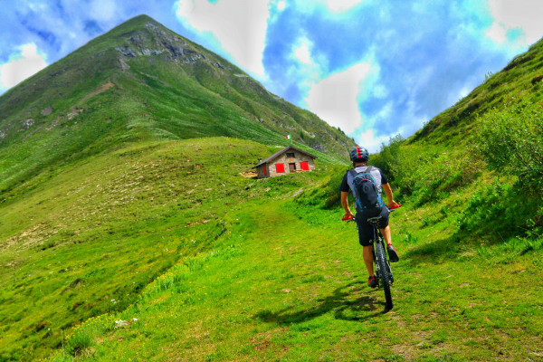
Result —
[[[352, 139], [147, 16], [96, 38], [0, 97], [0, 361], [542, 360], [539, 45], [371, 155], [385, 310]], [[316, 171], [244, 177], [287, 130]]]

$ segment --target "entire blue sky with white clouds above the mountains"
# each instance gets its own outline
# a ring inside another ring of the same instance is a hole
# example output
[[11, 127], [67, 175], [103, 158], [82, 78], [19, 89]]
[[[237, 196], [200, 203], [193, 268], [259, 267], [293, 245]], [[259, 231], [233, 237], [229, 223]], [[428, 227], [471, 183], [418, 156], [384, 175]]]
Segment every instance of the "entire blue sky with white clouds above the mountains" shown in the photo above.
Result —
[[[138, 14], [378, 150], [543, 36], [540, 0], [0, 0], [0, 94]], [[0, 115], [1, 117], [1, 115]]]

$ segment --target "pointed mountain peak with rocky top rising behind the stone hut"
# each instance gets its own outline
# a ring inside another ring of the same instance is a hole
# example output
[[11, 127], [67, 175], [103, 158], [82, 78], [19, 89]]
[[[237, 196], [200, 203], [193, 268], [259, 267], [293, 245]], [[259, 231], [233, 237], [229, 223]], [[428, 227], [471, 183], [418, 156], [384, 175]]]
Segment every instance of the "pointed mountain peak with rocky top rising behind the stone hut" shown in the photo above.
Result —
[[146, 15], [0, 97], [0, 198], [29, 178], [127, 142], [252, 139], [343, 158], [354, 144], [307, 110]]

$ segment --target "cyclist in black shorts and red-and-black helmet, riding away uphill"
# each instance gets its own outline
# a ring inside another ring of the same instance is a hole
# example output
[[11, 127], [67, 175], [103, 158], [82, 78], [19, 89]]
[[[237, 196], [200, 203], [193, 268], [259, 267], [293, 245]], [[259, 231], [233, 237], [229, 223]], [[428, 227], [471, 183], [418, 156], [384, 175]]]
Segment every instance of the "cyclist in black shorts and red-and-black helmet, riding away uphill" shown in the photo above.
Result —
[[[369, 159], [369, 153], [366, 148], [353, 148], [350, 152], [350, 159], [353, 162], [353, 167], [357, 173], [365, 172], [367, 169], [367, 160]], [[353, 186], [353, 176], [348, 170], [343, 176], [341, 181], [341, 186], [339, 186], [339, 191], [341, 191], [341, 205], [345, 210], [343, 215], [344, 219], [355, 218], [357, 222], [358, 229], [358, 241], [362, 245], [362, 255], [364, 257], [364, 262], [366, 263], [367, 271], [369, 272], [369, 278], [367, 279], [367, 285], [371, 288], [377, 286], [376, 276], [374, 274], [373, 268], [373, 226], [367, 222], [367, 216], [362, 213], [357, 213], [353, 215], [350, 208], [348, 207], [348, 192], [349, 190], [355, 195], [354, 186]], [[379, 220], [379, 229], [386, 241], [386, 251], [388, 252], [388, 258], [390, 262], [397, 262], [399, 260], [398, 254], [395, 251], [394, 246], [392, 246], [392, 235], [390, 233], [390, 226], [388, 225], [388, 214], [390, 214], [390, 209], [398, 207], [399, 205], [394, 201], [392, 195], [392, 189], [388, 185], [388, 179], [383, 172], [377, 168], [372, 167], [369, 171], [370, 175], [373, 176], [376, 183], [376, 188], [379, 193], [381, 193], [381, 187], [385, 190], [386, 201], [388, 202], [388, 207], [383, 207], [381, 210], [381, 220]]]

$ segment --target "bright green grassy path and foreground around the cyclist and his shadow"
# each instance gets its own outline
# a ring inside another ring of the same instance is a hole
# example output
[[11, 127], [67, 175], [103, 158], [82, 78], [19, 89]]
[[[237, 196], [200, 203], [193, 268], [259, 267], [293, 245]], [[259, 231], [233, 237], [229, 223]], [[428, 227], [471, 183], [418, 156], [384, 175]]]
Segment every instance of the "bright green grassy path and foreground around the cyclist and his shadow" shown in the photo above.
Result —
[[[225, 215], [227, 232], [213, 250], [178, 262], [127, 310], [104, 317], [98, 329], [84, 323], [66, 344], [89, 338], [78, 356], [100, 361], [518, 360], [541, 353], [542, 292], [533, 282], [540, 251], [509, 263], [460, 250], [434, 259], [414, 253], [427, 243], [426, 229], [413, 228], [422, 240], [414, 244], [397, 232], [404, 258], [394, 265], [395, 309], [386, 313], [382, 291], [366, 286], [354, 226], [341, 224], [338, 210], [307, 214], [281, 197], [270, 201]], [[393, 216], [395, 230], [409, 214]], [[113, 319], [127, 325], [112, 328]]]

